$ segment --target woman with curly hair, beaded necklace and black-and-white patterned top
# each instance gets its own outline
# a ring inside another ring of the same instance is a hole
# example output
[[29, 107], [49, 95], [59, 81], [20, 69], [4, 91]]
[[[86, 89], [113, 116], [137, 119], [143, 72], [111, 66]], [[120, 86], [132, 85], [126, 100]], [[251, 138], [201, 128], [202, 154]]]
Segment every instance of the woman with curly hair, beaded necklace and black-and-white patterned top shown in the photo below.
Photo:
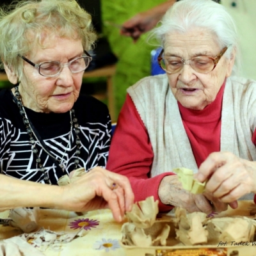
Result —
[[[96, 39], [90, 14], [74, 0], [19, 1], [1, 9], [0, 38], [1, 65], [15, 84], [0, 93], [0, 209], [110, 207], [121, 221], [133, 194], [126, 177], [104, 169], [108, 108], [79, 95]], [[77, 168], [80, 179], [49, 186]]]

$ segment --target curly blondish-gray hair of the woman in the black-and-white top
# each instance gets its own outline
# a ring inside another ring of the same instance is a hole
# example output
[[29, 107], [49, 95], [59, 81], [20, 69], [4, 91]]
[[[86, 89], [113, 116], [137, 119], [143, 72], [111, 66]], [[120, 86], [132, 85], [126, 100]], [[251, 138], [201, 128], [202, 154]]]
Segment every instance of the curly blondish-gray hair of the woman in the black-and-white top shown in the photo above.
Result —
[[22, 76], [24, 55], [35, 44], [44, 45], [47, 36], [81, 39], [83, 49], [92, 48], [97, 36], [92, 17], [75, 0], [22, 0], [10, 10], [0, 9], [0, 67], [5, 63], [15, 74]]

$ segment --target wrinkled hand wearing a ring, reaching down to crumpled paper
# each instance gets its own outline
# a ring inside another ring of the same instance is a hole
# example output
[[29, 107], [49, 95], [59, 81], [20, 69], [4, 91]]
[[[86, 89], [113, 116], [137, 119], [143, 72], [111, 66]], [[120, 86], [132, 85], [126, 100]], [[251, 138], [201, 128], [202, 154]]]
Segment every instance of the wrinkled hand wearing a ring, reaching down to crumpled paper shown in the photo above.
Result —
[[[116, 184], [116, 188], [112, 184]], [[109, 207], [116, 221], [122, 221], [125, 211], [131, 211], [134, 202], [127, 177], [100, 167], [60, 188], [65, 209], [83, 212]]]

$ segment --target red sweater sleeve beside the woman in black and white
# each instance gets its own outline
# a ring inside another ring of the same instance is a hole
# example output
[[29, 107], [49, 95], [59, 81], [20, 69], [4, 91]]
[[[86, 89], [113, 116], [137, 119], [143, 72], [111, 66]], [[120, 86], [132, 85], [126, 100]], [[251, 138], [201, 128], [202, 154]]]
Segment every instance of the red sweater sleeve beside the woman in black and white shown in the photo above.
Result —
[[173, 207], [161, 203], [158, 188], [163, 177], [174, 173], [149, 178], [153, 157], [147, 129], [131, 97], [127, 95], [111, 141], [107, 169], [129, 178], [135, 202], [154, 196], [159, 201], [159, 211], [170, 211]]

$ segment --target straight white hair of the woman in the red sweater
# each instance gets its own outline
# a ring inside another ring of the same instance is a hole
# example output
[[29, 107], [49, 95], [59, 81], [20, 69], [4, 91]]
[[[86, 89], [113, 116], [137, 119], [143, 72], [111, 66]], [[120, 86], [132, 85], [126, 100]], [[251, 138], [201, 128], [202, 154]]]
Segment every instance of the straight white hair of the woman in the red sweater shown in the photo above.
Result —
[[221, 49], [228, 46], [225, 58], [232, 58], [235, 49], [236, 61], [232, 73], [238, 74], [241, 58], [236, 24], [225, 7], [212, 0], [182, 0], [173, 4], [150, 37], [156, 37], [163, 47], [168, 33], [184, 34], [195, 28], [207, 29], [216, 35], [216, 42]]

